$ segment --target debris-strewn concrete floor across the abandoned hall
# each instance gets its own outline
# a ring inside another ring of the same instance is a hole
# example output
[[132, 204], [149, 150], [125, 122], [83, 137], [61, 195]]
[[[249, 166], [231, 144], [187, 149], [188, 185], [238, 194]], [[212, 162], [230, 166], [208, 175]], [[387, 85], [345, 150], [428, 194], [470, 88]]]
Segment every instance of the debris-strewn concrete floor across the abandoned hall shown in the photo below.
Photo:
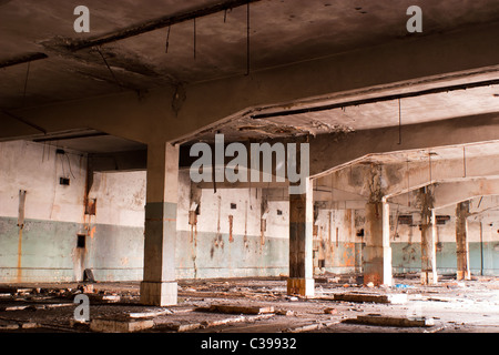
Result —
[[[139, 283], [94, 283], [93, 293], [86, 293], [90, 322], [83, 324], [75, 323], [73, 315], [73, 300], [82, 284], [0, 285], [0, 333], [86, 333], [94, 331], [91, 324], [96, 320], [120, 324], [146, 321], [149, 325], [139, 332], [147, 333], [499, 333], [499, 277], [466, 282], [447, 277], [436, 286], [421, 286], [417, 277], [407, 275], [395, 277], [398, 286], [384, 288], [357, 286], [355, 282], [355, 276], [322, 276], [316, 280], [316, 296], [305, 300], [286, 295], [284, 277], [183, 281], [179, 283], [179, 305], [166, 308], [140, 305]], [[408, 302], [333, 301], [338, 294], [406, 294]], [[213, 304], [273, 307], [274, 312], [242, 315], [195, 311]], [[327, 308], [333, 308], [332, 313], [325, 313]], [[154, 312], [163, 314], [130, 316]], [[425, 317], [432, 318], [435, 325], [343, 323], [359, 315]]]

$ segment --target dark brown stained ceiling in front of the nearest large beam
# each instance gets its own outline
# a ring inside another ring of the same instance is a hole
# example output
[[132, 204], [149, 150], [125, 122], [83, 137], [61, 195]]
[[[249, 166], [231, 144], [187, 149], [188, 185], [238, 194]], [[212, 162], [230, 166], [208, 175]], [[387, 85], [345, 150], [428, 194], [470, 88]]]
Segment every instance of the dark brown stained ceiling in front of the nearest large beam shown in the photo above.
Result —
[[[0, 71], [0, 108], [192, 83], [246, 72], [246, 7], [72, 52], [67, 44], [92, 39], [222, 0], [88, 0], [90, 33], [75, 33], [73, 9], [81, 1], [0, 1], [0, 62], [41, 52], [47, 59]], [[389, 41], [410, 41], [406, 10], [424, 9], [425, 36], [499, 20], [499, 3], [482, 1], [262, 0], [251, 4], [251, 68], [332, 55]], [[225, 19], [225, 21], [224, 21]], [[116, 81], [121, 84], [116, 84]], [[24, 97], [24, 84], [26, 97]]]

